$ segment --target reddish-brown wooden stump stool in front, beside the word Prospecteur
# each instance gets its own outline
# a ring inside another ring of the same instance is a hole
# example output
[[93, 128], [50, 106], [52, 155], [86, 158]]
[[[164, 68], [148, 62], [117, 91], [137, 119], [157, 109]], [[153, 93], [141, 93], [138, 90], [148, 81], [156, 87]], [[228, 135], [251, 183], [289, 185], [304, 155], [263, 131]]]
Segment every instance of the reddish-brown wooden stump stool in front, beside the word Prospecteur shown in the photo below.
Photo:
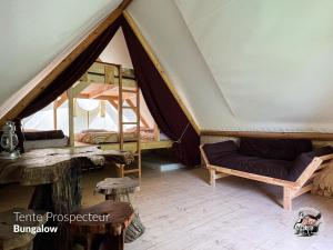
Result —
[[[99, 204], [80, 209], [75, 212], [90, 220], [73, 221], [70, 230], [73, 234], [83, 234], [84, 250], [108, 249], [123, 250], [124, 230], [131, 223], [134, 211], [128, 202], [103, 201]], [[98, 220], [92, 219], [99, 216]]]

